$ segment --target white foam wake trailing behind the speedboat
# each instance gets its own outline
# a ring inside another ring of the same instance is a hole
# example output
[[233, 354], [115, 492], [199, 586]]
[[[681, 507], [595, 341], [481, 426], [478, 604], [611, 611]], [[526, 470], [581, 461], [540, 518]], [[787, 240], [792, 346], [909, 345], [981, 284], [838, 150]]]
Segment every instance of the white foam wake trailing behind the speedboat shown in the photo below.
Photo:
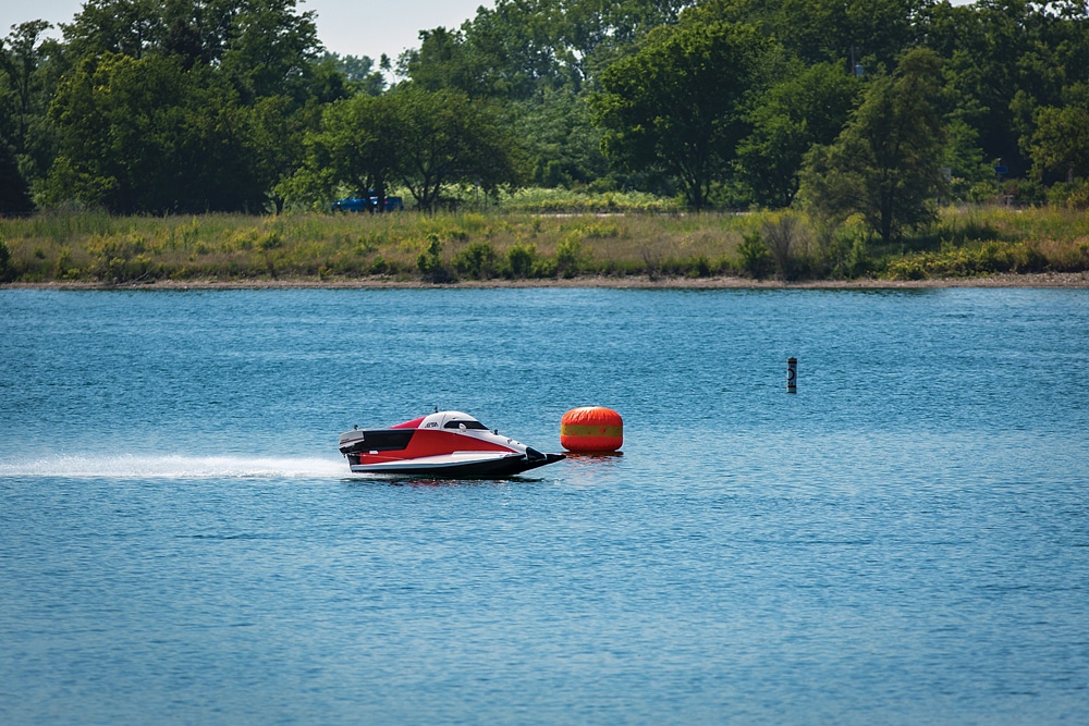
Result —
[[53, 456], [0, 462], [0, 477], [77, 479], [330, 479], [347, 476], [347, 464], [325, 458], [242, 456]]

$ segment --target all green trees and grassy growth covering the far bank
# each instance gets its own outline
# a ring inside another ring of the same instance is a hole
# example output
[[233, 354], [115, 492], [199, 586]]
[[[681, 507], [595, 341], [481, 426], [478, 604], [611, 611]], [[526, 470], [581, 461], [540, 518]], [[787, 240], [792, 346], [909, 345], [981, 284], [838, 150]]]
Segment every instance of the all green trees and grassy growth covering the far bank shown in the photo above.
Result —
[[377, 61], [295, 0], [60, 29], [0, 44], [7, 279], [1085, 269], [1081, 0], [497, 0]]

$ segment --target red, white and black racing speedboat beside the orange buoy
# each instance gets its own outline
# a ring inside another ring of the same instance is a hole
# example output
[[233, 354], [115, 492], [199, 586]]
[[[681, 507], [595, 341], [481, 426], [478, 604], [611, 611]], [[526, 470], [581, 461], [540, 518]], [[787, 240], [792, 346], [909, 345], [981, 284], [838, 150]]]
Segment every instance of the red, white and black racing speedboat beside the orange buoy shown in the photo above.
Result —
[[353, 429], [340, 450], [353, 472], [510, 477], [566, 458], [491, 431], [468, 414], [437, 411], [389, 429]]

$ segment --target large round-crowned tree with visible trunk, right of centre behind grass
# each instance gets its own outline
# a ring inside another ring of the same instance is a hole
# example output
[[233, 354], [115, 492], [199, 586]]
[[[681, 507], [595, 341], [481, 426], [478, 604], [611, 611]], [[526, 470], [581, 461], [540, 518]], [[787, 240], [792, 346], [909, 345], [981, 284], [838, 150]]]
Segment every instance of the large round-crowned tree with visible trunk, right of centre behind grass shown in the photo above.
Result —
[[718, 21], [654, 30], [600, 75], [591, 106], [607, 155], [660, 171], [693, 209], [707, 208], [747, 135], [745, 103], [769, 48], [756, 28]]

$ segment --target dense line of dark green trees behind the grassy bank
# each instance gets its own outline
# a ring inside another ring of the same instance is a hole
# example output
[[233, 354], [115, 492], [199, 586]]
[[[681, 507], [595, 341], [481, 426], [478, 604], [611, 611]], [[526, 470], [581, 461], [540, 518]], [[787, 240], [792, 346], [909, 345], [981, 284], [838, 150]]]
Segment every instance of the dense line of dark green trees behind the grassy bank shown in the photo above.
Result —
[[497, 0], [378, 62], [323, 52], [295, 0], [87, 0], [48, 29], [0, 46], [4, 213], [531, 184], [808, 202], [890, 238], [995, 168], [1087, 196], [1084, 0]]

